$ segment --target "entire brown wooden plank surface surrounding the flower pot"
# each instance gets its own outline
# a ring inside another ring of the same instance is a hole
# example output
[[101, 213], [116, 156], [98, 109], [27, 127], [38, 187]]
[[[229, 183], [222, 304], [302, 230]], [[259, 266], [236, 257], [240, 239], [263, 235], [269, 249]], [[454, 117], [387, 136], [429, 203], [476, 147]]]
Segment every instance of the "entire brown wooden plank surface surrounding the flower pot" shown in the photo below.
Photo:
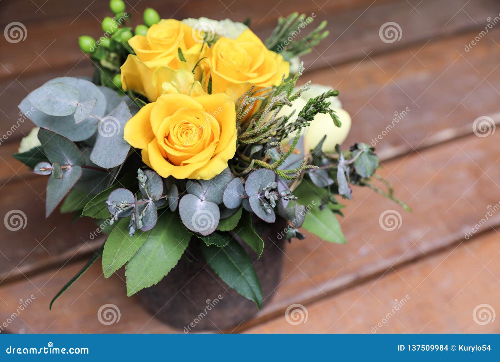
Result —
[[[279, 14], [313, 12], [317, 23], [328, 20], [329, 38], [303, 58], [307, 72], [302, 81], [340, 91], [352, 116], [344, 147], [370, 143], [393, 122], [395, 112], [409, 109], [376, 149], [380, 175], [413, 212], [368, 189], [355, 189], [340, 220], [348, 243], [329, 244], [306, 234], [305, 240], [287, 245], [282, 282], [272, 302], [254, 319], [224, 332], [371, 333], [378, 323], [382, 326], [374, 331], [381, 333], [500, 331], [498, 319], [480, 325], [472, 317], [479, 304], [500, 311], [500, 212], [495, 211], [500, 207], [500, 136], [478, 137], [472, 127], [478, 117], [500, 122], [500, 31], [488, 29], [470, 51], [464, 50], [485, 29], [488, 17], [498, 16], [500, 3], [345, 0], [321, 6], [310, 0], [236, 0], [231, 5], [223, 0], [202, 7], [200, 0], [134, 2], [128, 3], [138, 3], [138, 12], [151, 6], [178, 19], [251, 17], [262, 38]], [[49, 0], [39, 2], [41, 9], [35, 3], [0, 3], [2, 27], [15, 13], [27, 29], [24, 42], [0, 39], [1, 135], [17, 122], [15, 105], [28, 90], [55, 76], [89, 74], [76, 38], [98, 36], [98, 19], [107, 15], [107, 2], [67, 6]], [[137, 24], [135, 10], [132, 21]], [[400, 26], [399, 41], [379, 38], [387, 22]], [[102, 240], [90, 237], [96, 228], [92, 220], [72, 224], [69, 215], [44, 219], [46, 180], [10, 158], [29, 123], [19, 123], [0, 145], [0, 216], [18, 209], [27, 220], [23, 229], [2, 226], [0, 233], [0, 322], [33, 295], [7, 331], [181, 332], [152, 318], [135, 297], [126, 297], [121, 273], [104, 279], [99, 264], [48, 312], [51, 297]], [[392, 231], [379, 224], [387, 210], [401, 215]], [[472, 228], [478, 231], [465, 237]], [[403, 299], [405, 304], [387, 319]], [[118, 323], [98, 321], [97, 310], [107, 303], [119, 307]], [[307, 311], [306, 321], [288, 322], [285, 311], [292, 304]]]

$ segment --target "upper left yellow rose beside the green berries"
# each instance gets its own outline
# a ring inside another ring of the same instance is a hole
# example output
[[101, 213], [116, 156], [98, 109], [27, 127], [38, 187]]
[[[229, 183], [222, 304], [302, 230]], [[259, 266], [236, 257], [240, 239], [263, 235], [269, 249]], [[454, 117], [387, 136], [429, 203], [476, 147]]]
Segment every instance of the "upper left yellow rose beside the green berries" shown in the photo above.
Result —
[[[129, 55], [120, 68], [123, 90], [143, 94], [150, 102], [161, 95], [161, 85], [170, 81], [172, 71], [190, 72], [194, 68], [202, 46], [193, 39], [191, 27], [173, 19], [160, 20], [147, 30], [145, 37], [136, 35], [128, 44], [135, 55]], [[179, 48], [186, 62], [179, 59]], [[199, 67], [196, 77], [201, 77]]]

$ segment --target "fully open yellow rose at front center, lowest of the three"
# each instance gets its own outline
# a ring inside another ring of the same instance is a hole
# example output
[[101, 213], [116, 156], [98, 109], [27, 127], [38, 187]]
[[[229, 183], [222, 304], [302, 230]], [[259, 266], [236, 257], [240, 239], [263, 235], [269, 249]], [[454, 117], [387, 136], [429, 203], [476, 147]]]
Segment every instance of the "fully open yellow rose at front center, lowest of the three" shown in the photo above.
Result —
[[162, 177], [209, 180], [236, 152], [234, 102], [225, 94], [164, 94], [142, 107], [123, 138]]

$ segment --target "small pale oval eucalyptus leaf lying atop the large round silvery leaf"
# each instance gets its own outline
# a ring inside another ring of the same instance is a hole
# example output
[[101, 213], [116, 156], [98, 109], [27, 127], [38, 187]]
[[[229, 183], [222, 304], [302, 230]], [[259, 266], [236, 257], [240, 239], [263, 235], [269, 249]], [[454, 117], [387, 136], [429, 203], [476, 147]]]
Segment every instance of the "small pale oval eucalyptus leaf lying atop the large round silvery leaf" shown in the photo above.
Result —
[[73, 86], [55, 82], [35, 89], [29, 94], [28, 99], [43, 113], [61, 117], [74, 113], [80, 100], [80, 93]]

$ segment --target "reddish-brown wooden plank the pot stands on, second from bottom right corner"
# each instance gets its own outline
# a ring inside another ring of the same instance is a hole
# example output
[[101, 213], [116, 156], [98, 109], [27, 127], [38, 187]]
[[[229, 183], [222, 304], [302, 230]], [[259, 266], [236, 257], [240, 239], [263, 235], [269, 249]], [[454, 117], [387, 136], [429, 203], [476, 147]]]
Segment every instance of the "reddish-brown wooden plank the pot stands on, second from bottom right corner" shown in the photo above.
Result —
[[[287, 257], [282, 282], [277, 289], [278, 295], [274, 297], [270, 305], [262, 309], [254, 321], [244, 324], [243, 327], [279, 315], [290, 304], [308, 305], [315, 300], [356, 285], [362, 280], [378, 277], [391, 267], [396, 268], [411, 260], [423, 258], [435, 250], [457, 244], [459, 240], [465, 238], [467, 232], [474, 236], [487, 231], [490, 226], [500, 225], [500, 213], [496, 212], [500, 207], [498, 205], [500, 189], [495, 184], [495, 180], [500, 178], [500, 168], [495, 167], [495, 162], [500, 160], [498, 137], [496, 135], [486, 138], [469, 136], [458, 139], [456, 142], [426, 149], [419, 154], [413, 153], [387, 162], [382, 174], [394, 184], [397, 196], [408, 201], [413, 212], [404, 213], [392, 202], [382, 199], [379, 195], [366, 189], [356, 189], [354, 200], [348, 203], [345, 217], [341, 220], [348, 243], [330, 244], [307, 234], [305, 240], [295, 240], [287, 245], [285, 250]], [[395, 210], [391, 213], [397, 216], [398, 212], [401, 215], [401, 221], [397, 221], [396, 224], [399, 228], [387, 231], [390, 225], [383, 224], [385, 229], [382, 229], [379, 216], [387, 210]], [[488, 215], [488, 212], [491, 215]], [[481, 221], [481, 219], [484, 220]], [[482, 226], [478, 228], [478, 231], [471, 232], [479, 222]], [[2, 250], [7, 249], [4, 246], [5, 241], [2, 241], [1, 245]], [[79, 266], [80, 264], [67, 267], [68, 271], [50, 270], [34, 278], [29, 277], [36, 288], [40, 288], [46, 295], [43, 298], [40, 297], [40, 300], [47, 303], [57, 288], [63, 285], [68, 276], [71, 276]], [[89, 274], [88, 279], [79, 280], [76, 285], [81, 285], [77, 286], [77, 289], [68, 290], [64, 299], [59, 301], [60, 304], [70, 304], [80, 296], [81, 289], [79, 288], [85, 290], [90, 283], [97, 280], [92, 284], [93, 289], [90, 290], [92, 296], [84, 294], [84, 304], [89, 305], [88, 309], [91, 313], [80, 312], [80, 309], [71, 309], [69, 306], [67, 309], [64, 306], [65, 315], [69, 315], [72, 311], [75, 315], [72, 318], [81, 317], [81, 320], [93, 318], [95, 310], [106, 300], [107, 302], [114, 301], [116, 304], [117, 300], [122, 298], [126, 299], [123, 303], [129, 305], [127, 303], [130, 299], [125, 297], [123, 281], [118, 277], [104, 281], [98, 278], [100, 275], [98, 266], [94, 269], [95, 271]], [[45, 284], [44, 280], [49, 279], [54, 272], [56, 275]], [[118, 287], [114, 286], [116, 283], [119, 284]], [[36, 288], [30, 281], [9, 283], [0, 288], [0, 295], [4, 299], [17, 300], [20, 294], [26, 295], [27, 291], [37, 291]], [[114, 288], [120, 288], [120, 293], [109, 292], [115, 290]], [[105, 296], [102, 296], [104, 291]], [[97, 297], [99, 299], [96, 299]], [[390, 300], [395, 297], [391, 296]], [[122, 304], [116, 305], [121, 308]], [[126, 306], [126, 308], [132, 307]], [[34, 310], [35, 308], [32, 313], [38, 318], [39, 315]], [[83, 317], [80, 313], [89, 314]], [[28, 318], [27, 315], [26, 317]], [[28, 323], [32, 325], [31, 321], [35, 319], [35, 316], [29, 318]], [[48, 324], [48, 319], [40, 320], [42, 324], [36, 324], [37, 327], [32, 326], [33, 329], [38, 331], [46, 328], [54, 318], [50, 319]], [[136, 332], [137, 325], [141, 327], [146, 321], [143, 317], [137, 317], [133, 328], [130, 324], [126, 324], [119, 331]], [[61, 321], [61, 323], [66, 322]], [[94, 332], [103, 331], [99, 325], [97, 327], [93, 330]], [[67, 331], [73, 330], [67, 324], [57, 328], [61, 329], [52, 331], [64, 330], [63, 328]], [[113, 325], [109, 331], [118, 331], [116, 328], [121, 327]], [[141, 329], [141, 332], [158, 330], [154, 325], [151, 329], [148, 328]]]

